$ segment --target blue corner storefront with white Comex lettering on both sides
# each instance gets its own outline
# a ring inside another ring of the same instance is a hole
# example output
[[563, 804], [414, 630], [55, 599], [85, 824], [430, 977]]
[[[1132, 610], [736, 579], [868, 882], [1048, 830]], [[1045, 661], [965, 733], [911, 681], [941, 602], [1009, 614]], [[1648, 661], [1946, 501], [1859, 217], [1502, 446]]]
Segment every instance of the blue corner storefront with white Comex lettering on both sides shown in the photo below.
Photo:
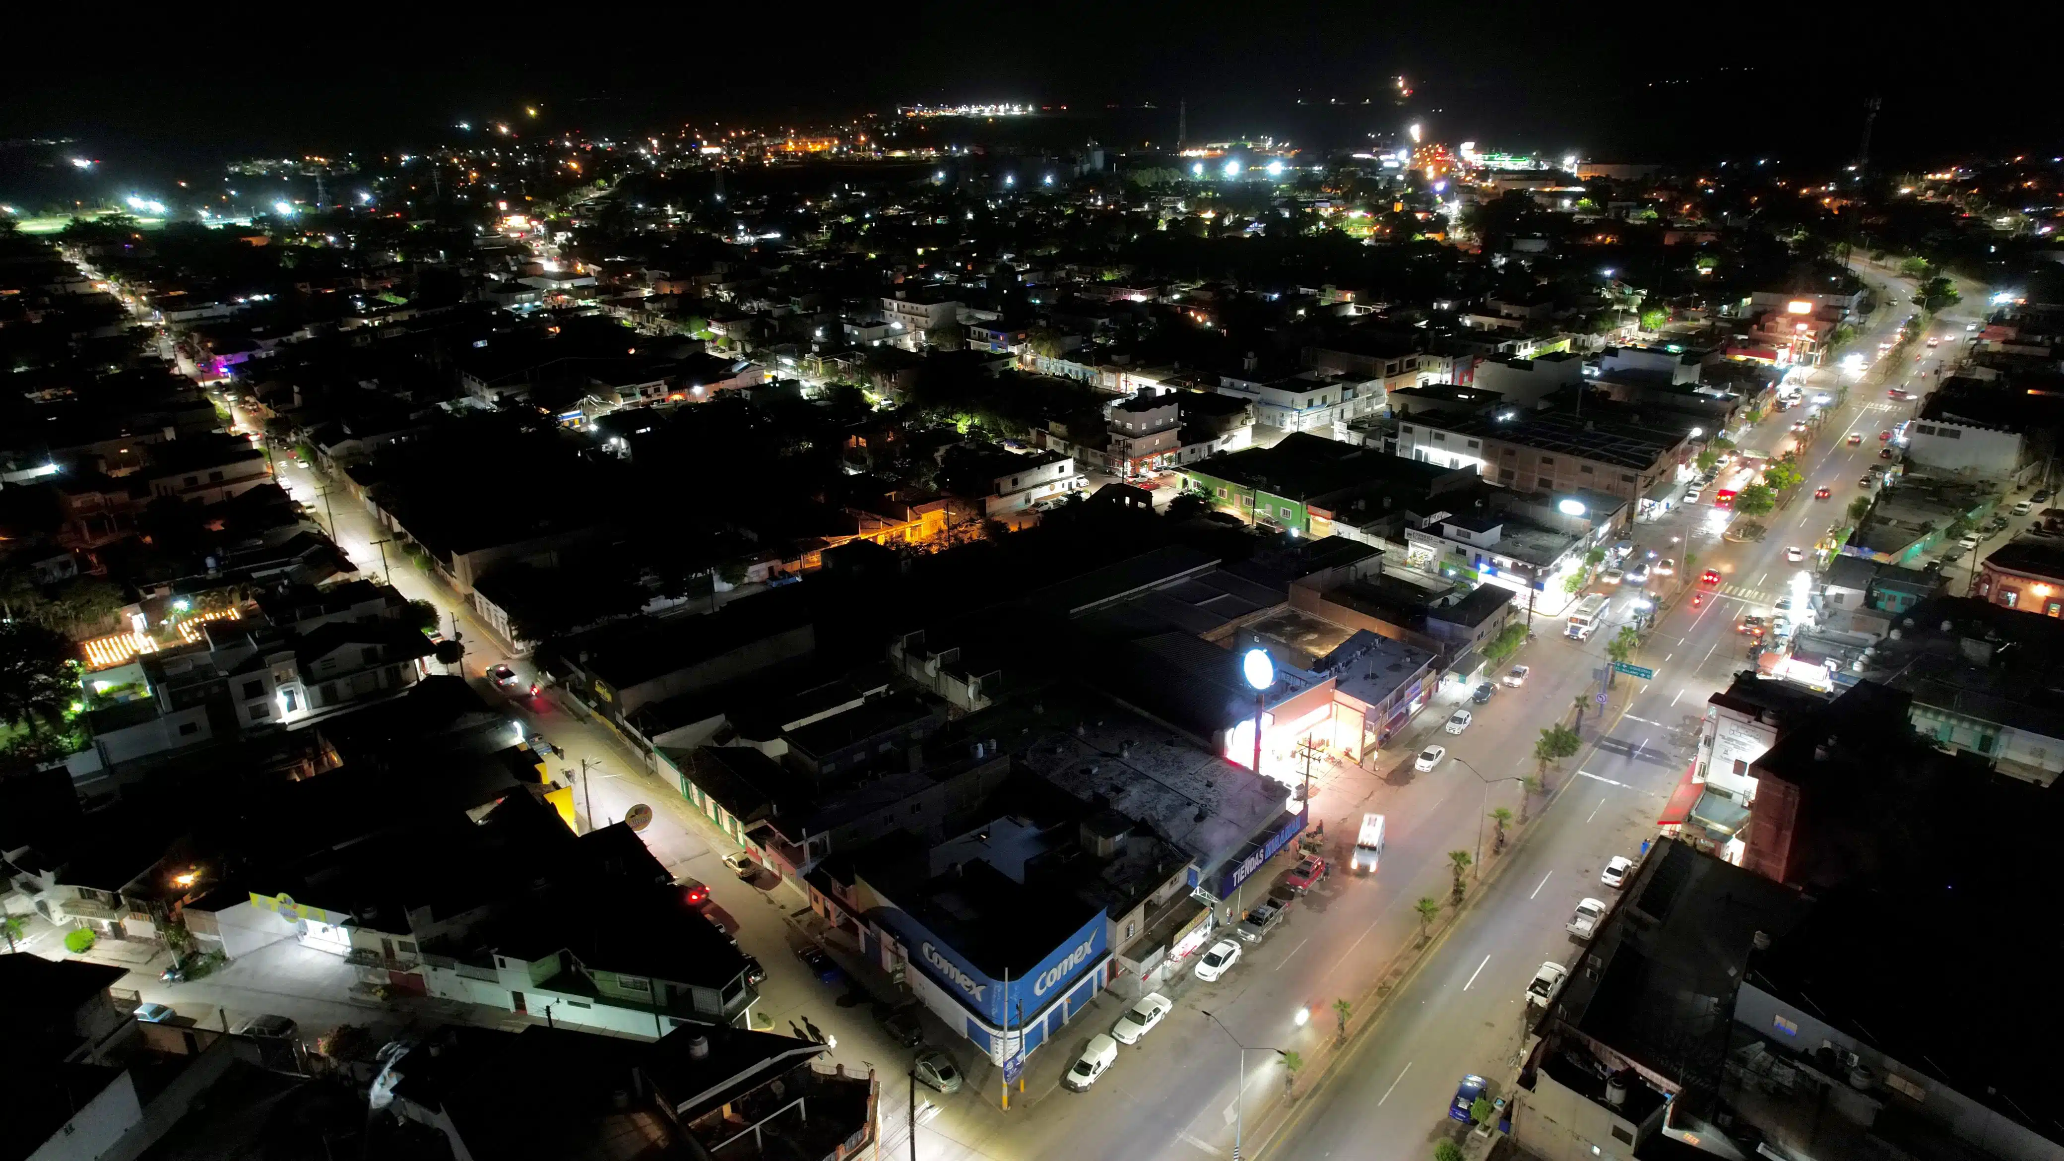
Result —
[[[949, 1027], [962, 1029], [993, 1062], [1003, 1064], [1011, 1056], [1030, 1056], [1104, 990], [1110, 973], [1110, 923], [1102, 911], [1088, 911], [1073, 934], [1009, 979], [974, 967], [906, 911], [875, 913], [875, 936], [883, 967], [896, 971], [900, 959], [910, 992]], [[1011, 919], [997, 915], [982, 921]]]

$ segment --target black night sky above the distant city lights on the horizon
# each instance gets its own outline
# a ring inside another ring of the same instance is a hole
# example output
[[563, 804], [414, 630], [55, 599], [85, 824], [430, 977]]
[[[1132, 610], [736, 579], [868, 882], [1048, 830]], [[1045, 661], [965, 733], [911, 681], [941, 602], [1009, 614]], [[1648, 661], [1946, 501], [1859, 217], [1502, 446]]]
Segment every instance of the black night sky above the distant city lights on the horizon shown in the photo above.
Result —
[[[19, 70], [0, 138], [68, 134], [161, 153], [407, 149], [543, 103], [594, 134], [766, 124], [912, 101], [1189, 101], [1191, 136], [1352, 145], [1434, 138], [1622, 161], [1843, 161], [1884, 99], [1874, 155], [2060, 151], [2033, 37], [1767, 8], [1569, 4], [892, 4], [252, 8], [70, 37]], [[1348, 12], [1348, 8], [1354, 8]], [[594, 12], [588, 19], [584, 12]], [[1643, 21], [1626, 17], [1647, 14]], [[1998, 43], [1988, 43], [1998, 37]], [[1391, 103], [1391, 76], [1416, 95]], [[1298, 99], [1307, 105], [1298, 105]], [[1352, 116], [1313, 116], [1340, 99]], [[1373, 103], [1364, 109], [1362, 99]], [[1115, 143], [1125, 145], [1125, 143]], [[1131, 143], [1137, 145], [1137, 143]], [[107, 145], [114, 149], [116, 145]], [[4, 161], [4, 159], [0, 159]]]

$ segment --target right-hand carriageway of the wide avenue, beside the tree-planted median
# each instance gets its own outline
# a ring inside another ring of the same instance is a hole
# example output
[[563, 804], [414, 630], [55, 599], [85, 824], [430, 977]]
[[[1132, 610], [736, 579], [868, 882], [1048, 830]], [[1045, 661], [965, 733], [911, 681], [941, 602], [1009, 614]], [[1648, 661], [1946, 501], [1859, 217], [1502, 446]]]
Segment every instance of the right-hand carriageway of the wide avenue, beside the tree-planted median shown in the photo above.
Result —
[[[1891, 281], [1882, 271], [1864, 273], [1878, 285]], [[1899, 302], [1878, 312], [1860, 349], [1876, 349], [1899, 326], [1911, 312], [1905, 297], [1897, 295]], [[1934, 331], [1961, 335], [1969, 318], [1975, 318], [1971, 308], [1953, 310]], [[1946, 357], [1950, 345], [1920, 364], [1897, 368], [1889, 384], [1915, 378], [1920, 370], [1938, 370]], [[1823, 390], [1831, 382], [1827, 372], [1816, 380]], [[1915, 382], [1924, 390], [1934, 380]], [[1849, 403], [1829, 417], [1825, 434], [1800, 457], [1808, 498], [1773, 512], [1767, 519], [1773, 531], [1765, 541], [1736, 545], [1713, 539], [1699, 527], [1701, 508], [1653, 527], [1657, 533], [1682, 529], [1678, 535], [1692, 539], [1699, 568], [1721, 570], [1726, 587], [1699, 607], [1682, 601], [1664, 616], [1637, 659], [1657, 669], [1655, 682], [1581, 756], [1583, 773], [1505, 874], [1393, 998], [1379, 1025], [1356, 1043], [1333, 1085], [1307, 1097], [1265, 1153], [1249, 1147], [1251, 1155], [1416, 1161], [1430, 1153], [1434, 1140], [1459, 1128], [1445, 1118], [1445, 1107], [1463, 1072], [1501, 1085], [1517, 1072], [1527, 981], [1542, 961], [1573, 959], [1577, 948], [1565, 923], [1575, 903], [1583, 897], [1610, 899], [1612, 890], [1598, 878], [1600, 868], [1610, 855], [1637, 853], [1641, 839], [1653, 835], [1655, 810], [1690, 760], [1692, 721], [1705, 711], [1707, 696], [1723, 690], [1746, 665], [1736, 616], [1767, 607], [1781, 595], [1800, 568], [1785, 560], [1787, 545], [1810, 547], [1827, 525], [1841, 523], [1837, 506], [1810, 500], [1810, 488], [1829, 483], [1835, 504], [1847, 506], [1860, 494], [1856, 477], [1878, 463], [1876, 434], [1917, 407], [1886, 401], [1889, 384], [1870, 374], [1851, 388]], [[1744, 446], [1775, 450], [1794, 415], [1771, 415]], [[1845, 444], [1849, 430], [1866, 432], [1864, 446]]]

